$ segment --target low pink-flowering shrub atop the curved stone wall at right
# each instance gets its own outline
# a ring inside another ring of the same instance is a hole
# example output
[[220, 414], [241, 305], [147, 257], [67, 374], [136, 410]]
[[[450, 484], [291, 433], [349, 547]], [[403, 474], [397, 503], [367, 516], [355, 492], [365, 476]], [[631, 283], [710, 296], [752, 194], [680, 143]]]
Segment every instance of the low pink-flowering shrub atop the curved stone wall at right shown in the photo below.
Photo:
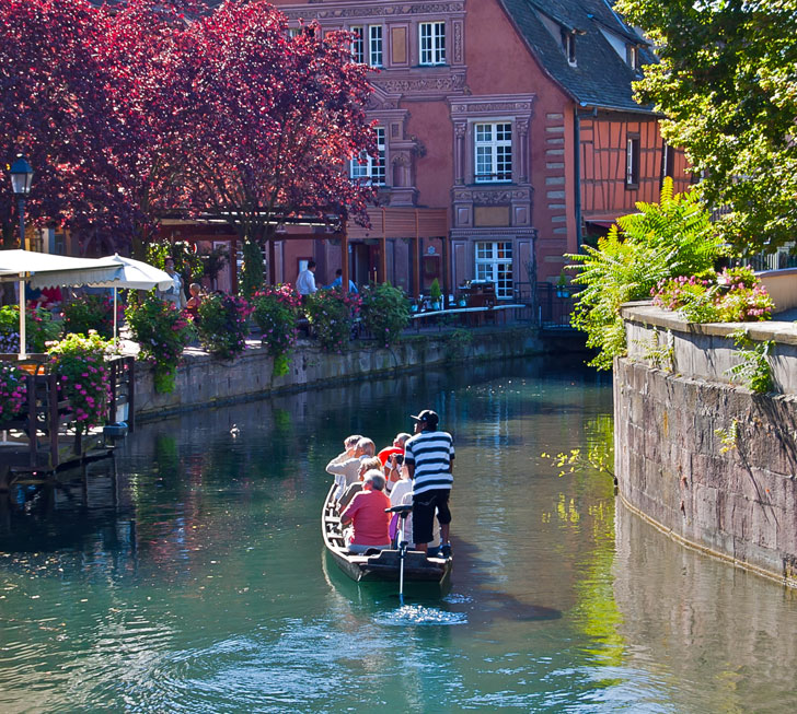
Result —
[[691, 323], [764, 320], [774, 308], [752, 268], [746, 267], [661, 280], [651, 294], [654, 305], [678, 311]]

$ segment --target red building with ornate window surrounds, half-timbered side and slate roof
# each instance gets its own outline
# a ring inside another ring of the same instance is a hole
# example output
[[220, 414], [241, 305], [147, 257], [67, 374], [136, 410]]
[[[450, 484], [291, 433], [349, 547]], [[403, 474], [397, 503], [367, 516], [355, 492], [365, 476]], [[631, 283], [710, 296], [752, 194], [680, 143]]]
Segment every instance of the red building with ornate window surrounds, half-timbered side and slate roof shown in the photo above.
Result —
[[[511, 300], [532, 278], [556, 281], [563, 255], [657, 200], [665, 175], [689, 184], [683, 155], [633, 100], [652, 61], [604, 0], [275, 0], [292, 32], [354, 33], [371, 65], [379, 153], [350, 166], [379, 188], [369, 229], [349, 226], [351, 277], [425, 291], [439, 278], [496, 283]], [[380, 212], [381, 211], [381, 212]], [[434, 230], [418, 232], [419, 212]], [[441, 220], [441, 216], [443, 220]], [[337, 242], [285, 242], [277, 278], [313, 257], [322, 280]]]

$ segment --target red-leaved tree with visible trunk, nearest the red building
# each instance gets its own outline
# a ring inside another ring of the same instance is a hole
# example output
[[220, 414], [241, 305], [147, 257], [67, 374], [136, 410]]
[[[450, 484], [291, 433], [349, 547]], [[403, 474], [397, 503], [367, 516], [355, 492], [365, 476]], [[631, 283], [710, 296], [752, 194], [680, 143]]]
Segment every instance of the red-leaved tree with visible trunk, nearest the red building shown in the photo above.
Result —
[[348, 33], [309, 26], [289, 38], [284, 15], [263, 2], [228, 0], [187, 36], [187, 200], [234, 227], [251, 295], [263, 282], [261, 248], [284, 216], [365, 214], [370, 191], [349, 180], [345, 160], [373, 150], [371, 89]]

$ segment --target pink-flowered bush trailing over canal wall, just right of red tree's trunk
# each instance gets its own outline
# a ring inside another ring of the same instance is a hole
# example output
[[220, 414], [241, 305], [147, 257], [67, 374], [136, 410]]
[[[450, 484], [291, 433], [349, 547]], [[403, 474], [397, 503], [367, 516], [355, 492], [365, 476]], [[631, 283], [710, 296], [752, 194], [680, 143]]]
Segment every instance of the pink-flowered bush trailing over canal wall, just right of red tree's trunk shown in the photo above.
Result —
[[263, 330], [263, 342], [274, 358], [274, 374], [288, 374], [288, 355], [297, 340], [301, 297], [291, 285], [266, 286], [255, 293], [252, 317]]

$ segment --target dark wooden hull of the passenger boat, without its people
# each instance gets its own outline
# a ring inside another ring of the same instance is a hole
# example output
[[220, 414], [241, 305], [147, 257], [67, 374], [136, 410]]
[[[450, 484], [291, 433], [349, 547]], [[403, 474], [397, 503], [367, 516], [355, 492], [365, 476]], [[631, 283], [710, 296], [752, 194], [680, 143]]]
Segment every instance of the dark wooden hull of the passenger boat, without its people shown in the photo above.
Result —
[[[340, 518], [335, 507], [333, 484], [324, 501], [321, 513], [321, 531], [324, 545], [338, 567], [351, 580], [399, 581], [401, 566], [399, 550], [382, 550], [372, 555], [349, 553], [343, 538]], [[407, 550], [404, 557], [404, 581], [442, 583], [451, 572], [452, 558], [427, 558], [417, 550]]]

